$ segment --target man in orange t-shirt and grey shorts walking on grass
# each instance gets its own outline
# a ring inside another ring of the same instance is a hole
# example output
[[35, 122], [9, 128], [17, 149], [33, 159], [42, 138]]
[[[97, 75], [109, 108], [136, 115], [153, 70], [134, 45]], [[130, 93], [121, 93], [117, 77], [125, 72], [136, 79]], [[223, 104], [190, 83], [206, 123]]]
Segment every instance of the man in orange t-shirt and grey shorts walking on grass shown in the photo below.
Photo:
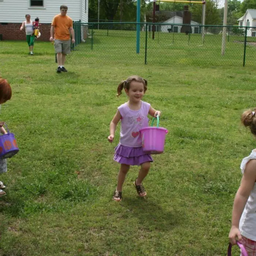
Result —
[[61, 71], [67, 72], [64, 68], [66, 54], [70, 53], [70, 34], [72, 36], [72, 44], [75, 42], [75, 33], [73, 29], [73, 21], [67, 15], [68, 7], [60, 6], [60, 14], [54, 16], [51, 26], [50, 41], [54, 41], [54, 49], [57, 53], [58, 68], [57, 73]]

